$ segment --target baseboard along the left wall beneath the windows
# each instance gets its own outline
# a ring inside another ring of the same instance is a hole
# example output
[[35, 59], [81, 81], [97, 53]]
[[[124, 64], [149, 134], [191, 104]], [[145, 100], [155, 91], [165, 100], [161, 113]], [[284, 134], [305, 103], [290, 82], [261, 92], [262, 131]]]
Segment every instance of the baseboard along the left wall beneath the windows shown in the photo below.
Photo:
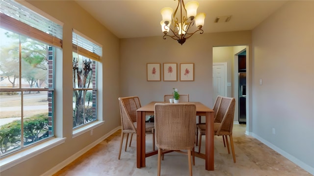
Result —
[[76, 154], [73, 154], [72, 156], [68, 157], [66, 160], [64, 160], [61, 163], [59, 163], [58, 165], [54, 166], [52, 169], [50, 169], [49, 171], [45, 172], [41, 176], [52, 176], [53, 174], [55, 174], [56, 172], [60, 171], [62, 168], [64, 168], [65, 166], [67, 166], [68, 164], [73, 162], [80, 155], [85, 154], [87, 151], [89, 151], [90, 149], [95, 147], [97, 144], [99, 144], [100, 142], [105, 140], [105, 138], [109, 137], [111, 134], [113, 134], [114, 132], [116, 132], [116, 131], [118, 131], [120, 129], [121, 129], [121, 126], [111, 130], [110, 132], [108, 132], [104, 136], [102, 136], [101, 138], [97, 139], [96, 141], [94, 141], [93, 143], [89, 144], [88, 146], [86, 146], [82, 150], [78, 151]]

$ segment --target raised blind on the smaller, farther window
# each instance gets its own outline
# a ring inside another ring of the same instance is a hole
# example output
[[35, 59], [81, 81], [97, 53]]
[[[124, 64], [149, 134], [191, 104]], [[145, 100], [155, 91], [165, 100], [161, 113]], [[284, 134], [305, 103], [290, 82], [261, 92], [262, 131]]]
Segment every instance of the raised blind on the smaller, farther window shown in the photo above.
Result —
[[103, 55], [103, 47], [95, 44], [86, 38], [77, 34], [78, 32], [72, 33], [72, 47], [74, 52], [99, 61]]

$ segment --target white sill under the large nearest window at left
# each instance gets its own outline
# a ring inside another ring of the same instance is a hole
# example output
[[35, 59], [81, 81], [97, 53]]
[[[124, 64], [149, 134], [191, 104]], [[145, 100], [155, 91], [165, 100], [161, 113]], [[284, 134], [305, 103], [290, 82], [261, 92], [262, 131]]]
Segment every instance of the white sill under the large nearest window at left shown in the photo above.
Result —
[[38, 154], [41, 154], [45, 151], [48, 151], [52, 149], [53, 147], [56, 147], [62, 143], [64, 143], [66, 137], [61, 138], [61, 137], [56, 137], [49, 139], [47, 141], [42, 142], [41, 144], [38, 144], [34, 147], [29, 147], [25, 150], [22, 150], [21, 152], [16, 152], [16, 154], [4, 156], [1, 158], [0, 162], [0, 170], [5, 171], [17, 164], [20, 164], [27, 159], [34, 157]]

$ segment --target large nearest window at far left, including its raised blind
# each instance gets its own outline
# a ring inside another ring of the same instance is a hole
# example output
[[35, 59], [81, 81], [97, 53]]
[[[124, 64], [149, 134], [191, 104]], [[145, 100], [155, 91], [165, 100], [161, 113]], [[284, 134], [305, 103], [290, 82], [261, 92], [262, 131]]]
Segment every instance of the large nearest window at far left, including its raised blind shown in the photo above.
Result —
[[0, 6], [2, 156], [54, 136], [54, 60], [62, 26], [15, 1], [0, 0]]

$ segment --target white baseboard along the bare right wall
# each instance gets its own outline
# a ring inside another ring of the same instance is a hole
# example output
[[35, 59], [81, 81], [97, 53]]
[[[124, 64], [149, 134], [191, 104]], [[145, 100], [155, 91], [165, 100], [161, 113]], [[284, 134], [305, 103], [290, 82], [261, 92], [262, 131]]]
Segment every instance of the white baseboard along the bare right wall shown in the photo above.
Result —
[[261, 141], [263, 144], [265, 144], [266, 146], [268, 146], [269, 148], [273, 149], [274, 151], [276, 151], [277, 153], [283, 155], [284, 157], [286, 157], [288, 160], [290, 160], [291, 162], [293, 162], [294, 164], [298, 165], [299, 167], [301, 167], [302, 169], [306, 170], [307, 172], [309, 172], [310, 174], [314, 175], [314, 167], [311, 167], [307, 164], [305, 164], [304, 162], [300, 161], [299, 159], [297, 159], [296, 157], [292, 156], [291, 154], [288, 154], [287, 152], [281, 150], [280, 148], [278, 148], [277, 146], [273, 145], [272, 143], [268, 142], [267, 140], [263, 139], [261, 136], [253, 133], [253, 132], [245, 132], [246, 134], [249, 134], [253, 137], [255, 137], [256, 139], [258, 139], [259, 141]]

